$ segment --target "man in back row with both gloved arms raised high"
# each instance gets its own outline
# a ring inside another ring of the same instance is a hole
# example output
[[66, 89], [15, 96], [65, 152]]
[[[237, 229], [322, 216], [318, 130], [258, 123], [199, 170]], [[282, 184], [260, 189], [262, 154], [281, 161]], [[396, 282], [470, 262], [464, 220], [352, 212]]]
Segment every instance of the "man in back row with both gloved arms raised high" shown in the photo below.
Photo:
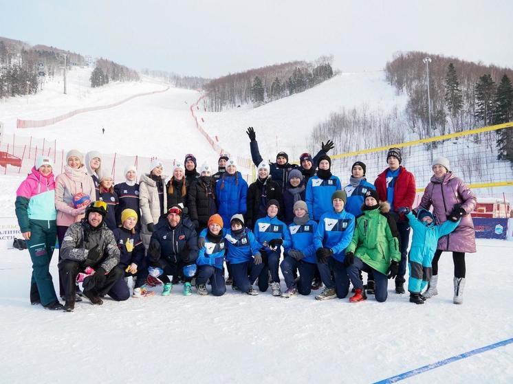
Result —
[[[259, 150], [259, 144], [257, 143], [257, 134], [254, 132], [254, 129], [252, 126], [248, 128], [248, 131], [246, 131], [248, 134], [248, 137], [250, 137], [250, 150], [251, 150], [251, 158], [253, 160], [253, 163], [255, 166], [259, 166], [259, 164], [263, 161], [260, 150]], [[333, 142], [331, 140], [328, 140], [326, 144], [324, 142], [322, 143], [322, 149], [317, 153], [317, 155], [314, 157], [314, 159], [311, 161], [313, 163], [313, 167], [317, 166], [317, 159], [320, 155], [326, 155], [326, 153], [334, 148]], [[311, 158], [311, 157], [310, 157]], [[276, 155], [276, 163], [269, 163], [270, 165], [270, 174], [271, 178], [278, 183], [280, 190], [283, 194], [283, 191], [285, 190], [285, 187], [287, 186], [288, 176], [289, 172], [293, 170], [294, 168], [299, 168], [299, 170], [303, 169], [303, 161], [301, 161], [301, 166], [297, 166], [295, 164], [289, 163], [289, 155], [285, 152], [279, 152], [278, 155]], [[302, 171], [303, 173], [303, 171]]]

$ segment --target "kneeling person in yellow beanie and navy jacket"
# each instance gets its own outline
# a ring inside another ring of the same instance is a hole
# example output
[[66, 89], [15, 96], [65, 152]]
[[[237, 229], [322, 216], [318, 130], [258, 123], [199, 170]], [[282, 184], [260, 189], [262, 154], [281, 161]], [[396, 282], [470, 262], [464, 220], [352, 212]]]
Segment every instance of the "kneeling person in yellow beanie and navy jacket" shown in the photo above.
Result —
[[120, 250], [119, 266], [124, 271], [124, 280], [120, 279], [116, 284], [124, 284], [126, 289], [129, 289], [126, 280], [132, 277], [135, 281], [133, 297], [153, 296], [155, 293], [149, 291], [144, 285], [148, 277], [148, 267], [144, 258], [145, 249], [141, 236], [138, 231], [135, 231], [137, 220], [137, 212], [127, 208], [121, 213], [122, 226], [112, 231]]

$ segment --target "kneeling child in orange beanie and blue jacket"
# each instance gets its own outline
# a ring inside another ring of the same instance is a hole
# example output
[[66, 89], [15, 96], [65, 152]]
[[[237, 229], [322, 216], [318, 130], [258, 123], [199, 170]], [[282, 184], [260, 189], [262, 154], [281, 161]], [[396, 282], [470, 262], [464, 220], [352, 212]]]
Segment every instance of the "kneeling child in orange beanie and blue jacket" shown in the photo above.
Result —
[[208, 218], [207, 227], [201, 231], [199, 237], [205, 241], [196, 260], [196, 289], [199, 295], [208, 295], [206, 283], [210, 280], [212, 295], [222, 296], [226, 292], [223, 273], [226, 241], [223, 238], [223, 219], [219, 214], [213, 214]]

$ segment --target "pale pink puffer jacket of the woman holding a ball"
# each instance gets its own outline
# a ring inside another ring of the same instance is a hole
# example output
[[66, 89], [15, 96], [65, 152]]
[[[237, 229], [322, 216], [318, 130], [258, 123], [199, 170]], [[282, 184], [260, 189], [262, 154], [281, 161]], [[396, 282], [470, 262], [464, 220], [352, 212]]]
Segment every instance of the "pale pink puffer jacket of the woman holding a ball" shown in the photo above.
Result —
[[69, 227], [80, 221], [84, 215], [73, 216], [73, 196], [78, 192], [89, 195], [89, 199], [96, 201], [96, 190], [93, 179], [86, 173], [85, 166], [78, 169], [64, 166], [64, 173], [55, 180], [55, 207], [57, 209], [57, 225]]

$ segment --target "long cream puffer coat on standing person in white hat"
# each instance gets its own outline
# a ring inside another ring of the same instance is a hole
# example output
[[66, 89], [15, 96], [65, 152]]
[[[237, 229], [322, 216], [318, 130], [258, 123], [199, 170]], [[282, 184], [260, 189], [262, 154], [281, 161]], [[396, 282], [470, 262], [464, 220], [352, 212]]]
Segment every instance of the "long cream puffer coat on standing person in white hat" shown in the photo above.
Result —
[[[162, 184], [166, 177], [162, 175]], [[141, 176], [139, 181], [139, 203], [141, 208], [141, 238], [144, 246], [148, 248], [151, 238], [151, 231], [148, 230], [148, 223], [157, 225], [162, 213], [157, 182], [151, 179], [148, 173]], [[164, 210], [167, 207], [167, 194], [164, 190]]]

